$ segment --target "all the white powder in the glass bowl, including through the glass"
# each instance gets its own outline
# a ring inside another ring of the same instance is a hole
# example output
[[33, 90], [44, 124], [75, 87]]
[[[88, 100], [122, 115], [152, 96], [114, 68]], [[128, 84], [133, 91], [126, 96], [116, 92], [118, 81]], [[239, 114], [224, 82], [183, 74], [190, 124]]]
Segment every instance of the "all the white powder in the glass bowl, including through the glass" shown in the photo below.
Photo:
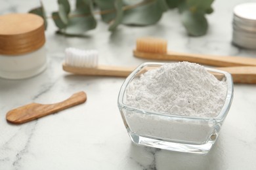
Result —
[[[166, 63], [147, 71], [131, 82], [125, 104], [143, 110], [213, 118], [221, 111], [226, 98], [227, 84], [217, 80], [196, 63]], [[190, 122], [141, 113], [126, 112], [131, 131], [164, 139], [203, 143], [213, 133], [209, 122]]]

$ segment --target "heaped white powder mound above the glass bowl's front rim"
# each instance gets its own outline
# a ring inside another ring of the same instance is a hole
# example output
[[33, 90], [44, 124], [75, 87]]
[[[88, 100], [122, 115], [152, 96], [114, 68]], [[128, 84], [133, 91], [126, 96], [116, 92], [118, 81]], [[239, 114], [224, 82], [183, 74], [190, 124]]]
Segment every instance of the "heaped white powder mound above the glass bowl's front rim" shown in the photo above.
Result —
[[226, 90], [226, 82], [217, 80], [202, 65], [165, 63], [133, 80], [125, 103], [164, 114], [215, 117], [223, 107]]

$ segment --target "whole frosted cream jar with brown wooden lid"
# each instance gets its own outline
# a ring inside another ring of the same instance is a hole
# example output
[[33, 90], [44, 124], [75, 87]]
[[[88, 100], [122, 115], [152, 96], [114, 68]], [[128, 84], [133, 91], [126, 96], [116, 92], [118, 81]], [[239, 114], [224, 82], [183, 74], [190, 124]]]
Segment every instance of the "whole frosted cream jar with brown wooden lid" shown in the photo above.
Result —
[[45, 28], [35, 14], [0, 16], [0, 77], [20, 79], [45, 70]]

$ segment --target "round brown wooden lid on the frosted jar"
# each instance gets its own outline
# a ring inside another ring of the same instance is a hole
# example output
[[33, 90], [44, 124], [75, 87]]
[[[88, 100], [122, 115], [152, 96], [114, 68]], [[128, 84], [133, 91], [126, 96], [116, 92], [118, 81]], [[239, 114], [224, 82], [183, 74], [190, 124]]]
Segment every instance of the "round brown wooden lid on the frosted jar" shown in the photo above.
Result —
[[43, 18], [35, 14], [0, 16], [0, 54], [33, 52], [45, 44]]

